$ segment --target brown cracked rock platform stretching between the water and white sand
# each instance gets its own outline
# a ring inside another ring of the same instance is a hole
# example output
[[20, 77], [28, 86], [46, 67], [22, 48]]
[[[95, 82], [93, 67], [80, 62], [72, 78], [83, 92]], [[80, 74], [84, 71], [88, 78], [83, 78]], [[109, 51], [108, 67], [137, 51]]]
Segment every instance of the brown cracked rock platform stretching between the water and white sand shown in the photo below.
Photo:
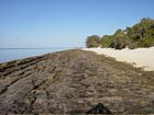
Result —
[[154, 71], [72, 49], [0, 64], [0, 114], [154, 114]]

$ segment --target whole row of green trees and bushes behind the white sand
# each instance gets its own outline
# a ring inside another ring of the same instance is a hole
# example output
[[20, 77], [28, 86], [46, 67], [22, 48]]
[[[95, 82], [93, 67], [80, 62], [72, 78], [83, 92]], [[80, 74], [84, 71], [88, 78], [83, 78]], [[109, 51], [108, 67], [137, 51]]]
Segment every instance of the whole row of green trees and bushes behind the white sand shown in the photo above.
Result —
[[116, 49], [154, 46], [154, 20], [144, 18], [132, 27], [117, 30], [113, 35], [88, 36], [86, 45], [87, 47], [100, 46]]

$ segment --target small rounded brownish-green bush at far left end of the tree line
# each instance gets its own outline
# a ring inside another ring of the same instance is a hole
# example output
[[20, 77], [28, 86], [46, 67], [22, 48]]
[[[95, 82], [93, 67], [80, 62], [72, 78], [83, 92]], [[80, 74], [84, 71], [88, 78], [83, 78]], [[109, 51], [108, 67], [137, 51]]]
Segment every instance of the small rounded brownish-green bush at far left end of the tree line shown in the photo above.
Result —
[[86, 39], [86, 46], [88, 48], [100, 46], [100, 37], [98, 35], [88, 36]]

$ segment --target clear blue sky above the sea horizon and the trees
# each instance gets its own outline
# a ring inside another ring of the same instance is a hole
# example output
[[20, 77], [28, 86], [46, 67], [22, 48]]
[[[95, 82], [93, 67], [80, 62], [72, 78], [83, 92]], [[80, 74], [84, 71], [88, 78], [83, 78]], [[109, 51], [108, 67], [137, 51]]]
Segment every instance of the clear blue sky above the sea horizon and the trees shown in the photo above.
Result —
[[154, 0], [0, 0], [0, 47], [82, 47], [154, 19]]

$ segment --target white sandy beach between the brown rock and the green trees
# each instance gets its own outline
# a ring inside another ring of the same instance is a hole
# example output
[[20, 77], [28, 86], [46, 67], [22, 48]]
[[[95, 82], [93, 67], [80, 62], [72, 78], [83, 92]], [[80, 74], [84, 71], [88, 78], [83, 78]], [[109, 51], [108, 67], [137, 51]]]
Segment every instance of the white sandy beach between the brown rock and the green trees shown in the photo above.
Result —
[[133, 64], [134, 67], [142, 67], [146, 71], [154, 70], [154, 47], [117, 50], [113, 48], [82, 48], [95, 51], [98, 55], [116, 58], [119, 61]]

